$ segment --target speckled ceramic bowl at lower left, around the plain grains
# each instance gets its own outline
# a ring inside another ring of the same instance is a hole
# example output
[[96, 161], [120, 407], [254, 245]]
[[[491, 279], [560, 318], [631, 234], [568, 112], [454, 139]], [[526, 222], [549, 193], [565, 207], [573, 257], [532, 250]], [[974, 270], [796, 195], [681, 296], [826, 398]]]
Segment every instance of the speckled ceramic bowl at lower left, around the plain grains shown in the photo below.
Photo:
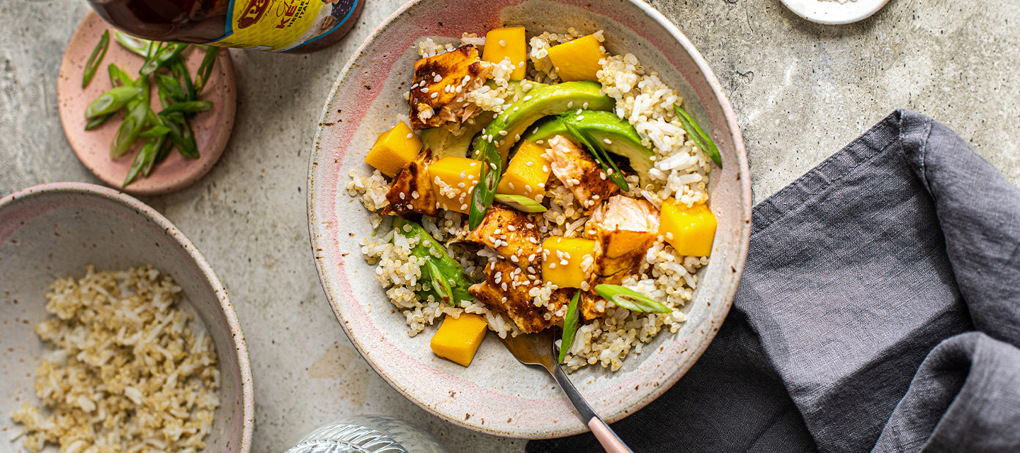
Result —
[[[248, 349], [223, 284], [169, 220], [119, 192], [78, 183], [36, 186], [0, 199], [0, 432], [21, 430], [11, 413], [37, 401], [35, 370], [48, 347], [34, 326], [46, 319], [43, 297], [56, 279], [153, 264], [172, 275], [212, 338], [219, 358], [220, 406], [206, 438], [209, 452], [247, 453], [253, 427]], [[23, 451], [0, 442], [0, 452]], [[54, 450], [55, 451], [55, 450]]]

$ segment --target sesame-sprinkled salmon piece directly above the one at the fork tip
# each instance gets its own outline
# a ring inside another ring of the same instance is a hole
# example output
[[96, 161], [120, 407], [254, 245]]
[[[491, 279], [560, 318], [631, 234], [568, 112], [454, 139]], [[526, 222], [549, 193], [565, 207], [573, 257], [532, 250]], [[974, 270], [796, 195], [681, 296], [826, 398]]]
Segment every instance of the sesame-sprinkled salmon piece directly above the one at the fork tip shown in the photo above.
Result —
[[534, 220], [533, 214], [494, 204], [465, 240], [496, 249], [504, 258], [520, 266], [525, 274], [533, 276], [531, 280], [538, 280], [542, 278], [542, 241]]

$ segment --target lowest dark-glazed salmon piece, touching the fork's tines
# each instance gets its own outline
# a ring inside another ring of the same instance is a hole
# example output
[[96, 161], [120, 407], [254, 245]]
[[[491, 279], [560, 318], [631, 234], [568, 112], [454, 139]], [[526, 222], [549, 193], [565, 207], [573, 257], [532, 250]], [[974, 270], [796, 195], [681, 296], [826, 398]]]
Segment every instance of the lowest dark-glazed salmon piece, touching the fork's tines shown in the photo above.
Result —
[[[547, 306], [536, 306], [529, 292], [540, 288], [541, 282], [532, 282], [523, 276], [524, 272], [516, 264], [497, 259], [486, 265], [486, 281], [472, 285], [467, 291], [486, 304], [490, 310], [507, 315], [520, 332], [533, 334], [549, 329], [563, 319], [570, 303], [572, 290], [553, 292]], [[561, 314], [562, 313], [562, 314]]]

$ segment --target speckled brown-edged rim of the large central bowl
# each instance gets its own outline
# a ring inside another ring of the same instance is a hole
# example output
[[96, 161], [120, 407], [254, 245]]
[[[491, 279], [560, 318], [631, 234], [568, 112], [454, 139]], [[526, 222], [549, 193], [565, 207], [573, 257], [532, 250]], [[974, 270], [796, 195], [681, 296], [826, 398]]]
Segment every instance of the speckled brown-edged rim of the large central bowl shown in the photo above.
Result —
[[[319, 115], [318, 127], [315, 133], [315, 139], [312, 143], [313, 147], [312, 152], [308, 156], [308, 183], [306, 185], [305, 197], [307, 200], [307, 211], [308, 211], [308, 233], [309, 233], [308, 236], [311, 242], [312, 256], [315, 258], [315, 270], [318, 273], [319, 283], [322, 286], [322, 290], [325, 293], [326, 299], [328, 299], [329, 301], [329, 307], [333, 310], [334, 316], [337, 317], [337, 322], [340, 323], [341, 328], [343, 328], [344, 334], [347, 335], [348, 338], [350, 338], [351, 336], [350, 333], [348, 332], [347, 324], [343, 321], [343, 319], [340, 316], [340, 310], [338, 305], [339, 301], [334, 299], [333, 293], [329, 291], [329, 288], [332, 288], [332, 286], [329, 285], [329, 283], [325, 281], [325, 278], [323, 276], [323, 266], [324, 266], [324, 263], [322, 263], [323, 257], [316, 252], [321, 247], [319, 247], [319, 239], [316, 236], [318, 221], [315, 217], [315, 209], [313, 207], [315, 199], [312, 196], [312, 194], [315, 189], [314, 162], [319, 157], [319, 154], [321, 152], [320, 143], [322, 139], [322, 133], [324, 131], [321, 124], [328, 119], [332, 100], [336, 99], [337, 97], [338, 89], [340, 87], [340, 82], [343, 81], [344, 78], [346, 78], [348, 73], [351, 71], [351, 68], [354, 66], [354, 62], [359, 57], [365, 54], [365, 52], [368, 50], [370, 43], [374, 42], [375, 39], [378, 38], [378, 36], [382, 33], [382, 31], [388, 29], [390, 24], [397, 19], [398, 16], [406, 12], [411, 7], [424, 1], [429, 1], [429, 0], [410, 0], [403, 6], [398, 8], [396, 11], [391, 13], [386, 18], [386, 20], [379, 23], [378, 27], [376, 27], [375, 30], [373, 30], [372, 33], [369, 34], [367, 38], [365, 38], [365, 41], [363, 41], [361, 45], [358, 46], [358, 48], [354, 51], [354, 53], [351, 54], [351, 56], [347, 60], [347, 63], [344, 64], [344, 68], [341, 69], [340, 74], [337, 77], [336, 82], [334, 82], [333, 88], [329, 90], [328, 98], [326, 99], [325, 105], [322, 107], [322, 113]], [[743, 221], [741, 221], [741, 224], [737, 228], [740, 231], [738, 239], [741, 245], [740, 247], [741, 252], [738, 253], [738, 256], [736, 258], [736, 265], [734, 266], [736, 271], [732, 275], [738, 283], [741, 276], [744, 274], [744, 264], [747, 261], [748, 245], [751, 240], [752, 194], [751, 194], [751, 170], [748, 164], [748, 154], [747, 154], [747, 149], [744, 146], [744, 136], [741, 134], [741, 128], [736, 122], [736, 114], [733, 112], [733, 107], [729, 103], [729, 100], [726, 98], [726, 95], [723, 94], [722, 86], [719, 84], [719, 80], [716, 79], [715, 72], [712, 71], [712, 68], [709, 67], [708, 65], [708, 61], [705, 60], [705, 57], [701, 55], [701, 52], [699, 52], [698, 49], [694, 46], [694, 44], [691, 43], [691, 40], [688, 40], [687, 37], [683, 35], [683, 33], [680, 32], [680, 30], [672, 21], [670, 21], [665, 15], [663, 15], [662, 12], [660, 12], [658, 9], [655, 9], [655, 7], [653, 7], [649, 3], [643, 0], [624, 0], [624, 1], [636, 6], [648, 17], [651, 17], [656, 22], [658, 22], [662, 28], [666, 29], [666, 31], [669, 32], [669, 35], [673, 38], [673, 40], [679, 43], [679, 45], [687, 52], [687, 54], [691, 56], [691, 59], [695, 61], [695, 64], [698, 66], [699, 70], [701, 70], [703, 77], [705, 78], [705, 81], [711, 88], [711, 94], [714, 98], [710, 98], [709, 100], [714, 101], [719, 105], [720, 109], [723, 112], [723, 116], [726, 118], [726, 124], [729, 127], [730, 131], [730, 138], [733, 141], [733, 151], [736, 154], [736, 161], [737, 165], [740, 166], [738, 173], [741, 175], [741, 195], [744, 198], [744, 203], [741, 204], [743, 212], [740, 218], [740, 220]], [[710, 315], [709, 318], [706, 320], [709, 320], [716, 324], [722, 323], [726, 315], [729, 313], [730, 307], [733, 304], [733, 297], [736, 295], [736, 288], [737, 285], [734, 284], [728, 291], [726, 291], [724, 296], [725, 308], [715, 313], [715, 315]], [[701, 358], [702, 354], [705, 353], [705, 349], [707, 349], [708, 345], [712, 343], [712, 340], [715, 339], [715, 335], [717, 332], [718, 329], [714, 331], [713, 330], [708, 331], [703, 341], [699, 342], [695, 346], [694, 351], [692, 352], [693, 360], [687, 361], [686, 366], [678, 367], [675, 372], [669, 374], [667, 379], [662, 382], [662, 385], [657, 386], [652, 392], [647, 394], [644, 398], [635, 401], [634, 404], [631, 405], [631, 407], [626, 408], [621, 412], [618, 412], [617, 413], [618, 416], [607, 417], [606, 421], [614, 422], [636, 412], [638, 410], [647, 406], [649, 403], [651, 403], [658, 397], [662, 396], [662, 394], [665, 393], [667, 390], [672, 388], [673, 385], [680, 380], [680, 377], [686, 374], [687, 370], [690, 370], [691, 366], [694, 365], [694, 363]], [[355, 349], [357, 349], [358, 354], [364, 357], [361, 346], [353, 340], [351, 341], [351, 344], [355, 347]], [[368, 363], [368, 365], [372, 368], [372, 370], [375, 371], [375, 373], [378, 374], [379, 377], [382, 379], [382, 381], [385, 381], [391, 388], [396, 390], [398, 393], [403, 395], [404, 398], [407, 398], [408, 400], [413, 402], [416, 406], [424, 409], [425, 411], [427, 411], [432, 415], [436, 415], [437, 417], [442, 418], [443, 420], [446, 420], [450, 423], [456, 424], [461, 427], [465, 427], [478, 433], [489, 434], [492, 436], [515, 437], [513, 436], [513, 434], [510, 433], [487, 431], [481, 429], [480, 426], [465, 423], [464, 420], [458, 419], [456, 417], [447, 416], [446, 414], [441, 413], [435, 410], [434, 408], [422, 404], [420, 401], [418, 401], [417, 398], [409, 394], [403, 388], [400, 388], [399, 386], [394, 385], [394, 383], [391, 383], [390, 380], [386, 377], [386, 374], [380, 372], [371, 360], [365, 360], [365, 362]], [[580, 430], [561, 433], [556, 437], [572, 436], [588, 431], [589, 430], [586, 426], [582, 426]], [[527, 435], [525, 435], [524, 437], [524, 439], [546, 439], [546, 438], [548, 437], [536, 437]]]

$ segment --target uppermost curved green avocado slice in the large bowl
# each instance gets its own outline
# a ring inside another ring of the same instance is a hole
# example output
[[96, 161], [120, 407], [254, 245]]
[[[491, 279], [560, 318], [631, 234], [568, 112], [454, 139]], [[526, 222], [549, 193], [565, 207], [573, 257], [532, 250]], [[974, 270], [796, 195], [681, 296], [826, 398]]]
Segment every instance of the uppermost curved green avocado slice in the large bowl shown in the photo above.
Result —
[[[597, 82], [565, 82], [532, 88], [519, 101], [510, 104], [496, 116], [481, 133], [480, 140], [496, 144], [496, 150], [506, 165], [510, 148], [519, 140], [527, 128], [543, 116], [563, 113], [567, 110], [586, 108], [589, 110], [612, 110], [616, 101], [603, 95], [602, 85]], [[585, 104], [588, 104], [585, 106]], [[475, 147], [473, 158], [481, 159], [479, 147]], [[502, 167], [501, 167], [502, 168]]]

